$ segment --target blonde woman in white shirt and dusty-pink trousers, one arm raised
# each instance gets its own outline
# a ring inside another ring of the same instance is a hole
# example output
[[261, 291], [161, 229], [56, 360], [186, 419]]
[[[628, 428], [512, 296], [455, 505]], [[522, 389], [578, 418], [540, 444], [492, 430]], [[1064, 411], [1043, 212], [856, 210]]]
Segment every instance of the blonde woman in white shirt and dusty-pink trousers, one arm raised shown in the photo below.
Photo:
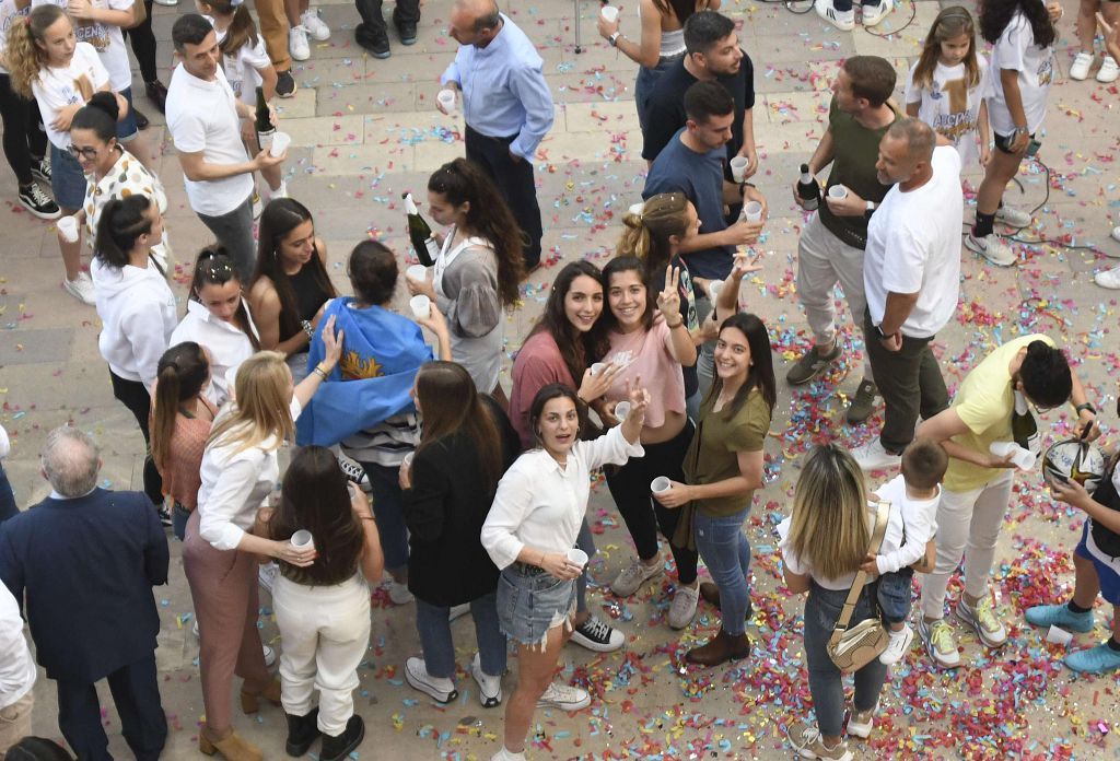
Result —
[[280, 476], [277, 450], [296, 432], [295, 419], [338, 363], [343, 335], [323, 330], [324, 357], [298, 386], [279, 351], [260, 351], [237, 369], [234, 400], [223, 408], [203, 452], [198, 505], [187, 520], [183, 565], [198, 618], [199, 669], [206, 724], [198, 750], [227, 761], [260, 761], [260, 749], [233, 731], [233, 676], [244, 679], [241, 706], [260, 698], [280, 704], [280, 683], [268, 671], [256, 630], [258, 556], [306, 567], [314, 548], [250, 533]]

